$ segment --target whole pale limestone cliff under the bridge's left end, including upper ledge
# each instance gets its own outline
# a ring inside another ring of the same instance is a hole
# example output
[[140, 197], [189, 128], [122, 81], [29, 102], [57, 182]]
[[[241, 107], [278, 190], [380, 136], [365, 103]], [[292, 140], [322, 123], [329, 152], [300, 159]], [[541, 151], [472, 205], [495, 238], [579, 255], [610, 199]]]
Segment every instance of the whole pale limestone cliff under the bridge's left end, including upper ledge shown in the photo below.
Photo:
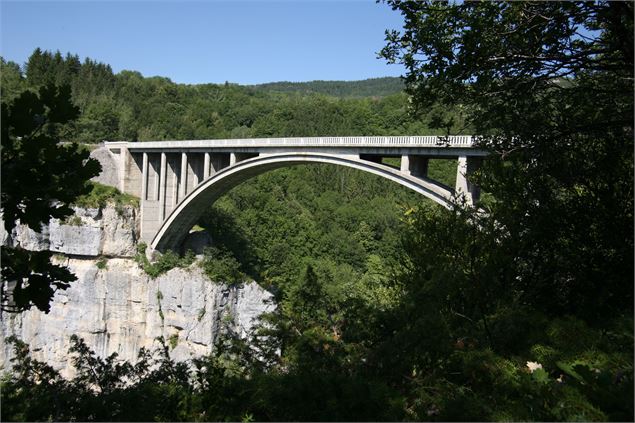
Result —
[[0, 368], [11, 365], [10, 335], [67, 377], [72, 334], [101, 357], [116, 352], [131, 362], [139, 348], [154, 350], [163, 336], [172, 357], [187, 360], [210, 353], [225, 330], [248, 336], [258, 316], [275, 308], [272, 294], [256, 283], [215, 283], [196, 263], [151, 279], [131, 258], [138, 233], [133, 208], [77, 209], [76, 216], [71, 224], [51, 221], [41, 234], [24, 226], [2, 234], [5, 245], [63, 253], [56, 260], [78, 280], [56, 294], [49, 314], [0, 314]]

